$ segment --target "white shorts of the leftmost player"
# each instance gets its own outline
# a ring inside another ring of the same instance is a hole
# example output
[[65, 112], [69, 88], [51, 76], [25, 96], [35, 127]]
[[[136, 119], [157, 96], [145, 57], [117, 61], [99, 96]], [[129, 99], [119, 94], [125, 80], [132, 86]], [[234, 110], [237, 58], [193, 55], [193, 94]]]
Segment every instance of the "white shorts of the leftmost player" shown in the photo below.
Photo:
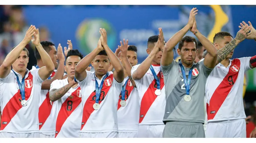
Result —
[[9, 133], [0, 132], [0, 138], [38, 138], [39, 133]]

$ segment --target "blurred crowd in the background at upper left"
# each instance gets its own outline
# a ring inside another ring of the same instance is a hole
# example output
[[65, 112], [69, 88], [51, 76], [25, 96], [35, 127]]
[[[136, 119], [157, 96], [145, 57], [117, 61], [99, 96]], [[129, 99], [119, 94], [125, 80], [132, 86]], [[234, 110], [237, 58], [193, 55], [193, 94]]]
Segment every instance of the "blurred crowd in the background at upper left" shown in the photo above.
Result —
[[[28, 28], [21, 5], [0, 5], [0, 65], [11, 48], [20, 43]], [[46, 27], [39, 27], [39, 30], [41, 41], [51, 41]], [[35, 47], [29, 44], [26, 48], [30, 53], [28, 69], [31, 69], [36, 64]]]

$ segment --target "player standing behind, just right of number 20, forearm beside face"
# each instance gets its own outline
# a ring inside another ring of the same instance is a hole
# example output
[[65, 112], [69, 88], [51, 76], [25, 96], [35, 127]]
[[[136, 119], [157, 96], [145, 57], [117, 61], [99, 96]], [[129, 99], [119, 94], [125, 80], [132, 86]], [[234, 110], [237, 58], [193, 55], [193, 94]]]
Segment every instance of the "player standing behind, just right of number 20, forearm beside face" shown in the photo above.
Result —
[[120, 138], [134, 138], [138, 137], [139, 95], [134, 81], [132, 83], [129, 77], [131, 77], [131, 67], [138, 63], [137, 47], [128, 46], [128, 40], [126, 42], [124, 40], [124, 44], [120, 41], [120, 44], [118, 49], [121, 51], [120, 61], [125, 67], [125, 80], [117, 104], [118, 133]]

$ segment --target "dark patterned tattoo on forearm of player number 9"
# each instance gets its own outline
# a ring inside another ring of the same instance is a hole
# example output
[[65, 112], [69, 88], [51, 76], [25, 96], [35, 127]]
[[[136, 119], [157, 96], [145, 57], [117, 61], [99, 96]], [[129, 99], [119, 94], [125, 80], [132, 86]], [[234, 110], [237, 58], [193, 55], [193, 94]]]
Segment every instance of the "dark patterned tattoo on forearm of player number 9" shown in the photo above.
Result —
[[[242, 34], [243, 35], [243, 34]], [[234, 39], [231, 42], [229, 42], [225, 47], [218, 50], [218, 58], [217, 61], [220, 63], [223, 59], [225, 59], [230, 52], [234, 50], [237, 40]]]

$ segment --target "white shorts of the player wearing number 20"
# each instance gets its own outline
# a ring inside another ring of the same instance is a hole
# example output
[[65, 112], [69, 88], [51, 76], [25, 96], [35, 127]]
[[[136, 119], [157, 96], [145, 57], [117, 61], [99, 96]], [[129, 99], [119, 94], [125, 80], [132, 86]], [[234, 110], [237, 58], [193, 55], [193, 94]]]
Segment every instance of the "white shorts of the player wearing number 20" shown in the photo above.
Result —
[[118, 132], [84, 133], [80, 132], [81, 138], [118, 138]]

